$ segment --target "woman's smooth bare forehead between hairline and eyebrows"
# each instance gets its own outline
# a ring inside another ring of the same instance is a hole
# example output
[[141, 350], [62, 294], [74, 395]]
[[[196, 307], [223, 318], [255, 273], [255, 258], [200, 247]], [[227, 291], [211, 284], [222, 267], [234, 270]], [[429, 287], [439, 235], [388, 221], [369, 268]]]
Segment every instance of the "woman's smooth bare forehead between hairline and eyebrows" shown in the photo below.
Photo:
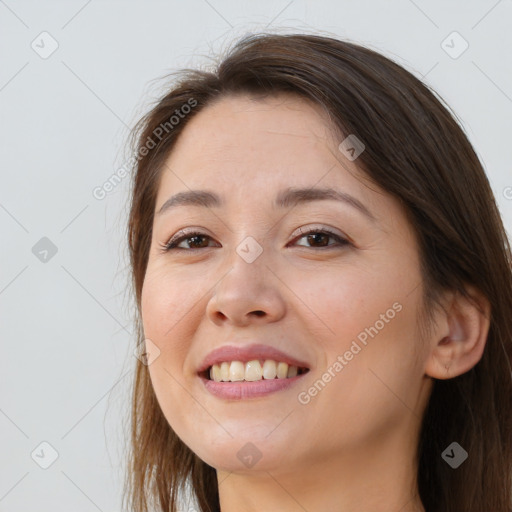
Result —
[[338, 150], [339, 139], [322, 108], [300, 97], [225, 97], [187, 123], [162, 169], [160, 189], [256, 192], [318, 184], [364, 196], [365, 175]]

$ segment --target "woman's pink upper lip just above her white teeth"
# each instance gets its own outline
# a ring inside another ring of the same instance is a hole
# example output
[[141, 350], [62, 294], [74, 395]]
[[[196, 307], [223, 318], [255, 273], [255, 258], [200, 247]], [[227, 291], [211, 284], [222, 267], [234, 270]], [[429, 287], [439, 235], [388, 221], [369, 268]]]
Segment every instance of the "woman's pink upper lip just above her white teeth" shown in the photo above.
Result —
[[288, 363], [289, 366], [309, 369], [309, 365], [306, 362], [300, 361], [275, 347], [255, 343], [245, 347], [240, 345], [224, 345], [216, 348], [203, 359], [197, 371], [201, 373], [210, 368], [210, 366], [216, 363], [222, 363], [223, 361], [241, 361], [242, 363], [246, 363], [247, 361], [253, 361], [255, 359], [273, 359], [274, 361]]

